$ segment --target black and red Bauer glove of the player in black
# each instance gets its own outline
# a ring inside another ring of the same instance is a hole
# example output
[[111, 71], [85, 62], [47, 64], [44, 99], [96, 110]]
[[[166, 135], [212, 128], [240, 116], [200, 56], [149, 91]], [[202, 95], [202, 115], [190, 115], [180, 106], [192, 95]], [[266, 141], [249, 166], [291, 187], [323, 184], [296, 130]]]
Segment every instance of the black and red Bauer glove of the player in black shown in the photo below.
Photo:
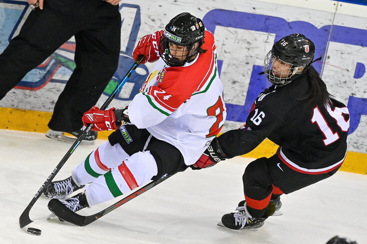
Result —
[[227, 155], [219, 146], [218, 138], [216, 137], [196, 163], [190, 165], [190, 167], [192, 169], [208, 168], [225, 159], [227, 159]]

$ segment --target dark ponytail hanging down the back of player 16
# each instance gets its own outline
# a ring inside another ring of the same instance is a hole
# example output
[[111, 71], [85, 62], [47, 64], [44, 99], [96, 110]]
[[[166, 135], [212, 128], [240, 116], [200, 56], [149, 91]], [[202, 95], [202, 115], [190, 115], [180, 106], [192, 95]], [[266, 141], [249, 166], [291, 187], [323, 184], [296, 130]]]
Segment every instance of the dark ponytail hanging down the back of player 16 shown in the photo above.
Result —
[[312, 65], [310, 65], [306, 72], [308, 81], [310, 82], [310, 89], [304, 98], [307, 100], [307, 106], [313, 108], [316, 106], [318, 100], [321, 99], [322, 104], [325, 107], [329, 105], [332, 109], [334, 109], [333, 102], [331, 101], [333, 96], [328, 92], [326, 84], [320, 78], [319, 73], [317, 73]]

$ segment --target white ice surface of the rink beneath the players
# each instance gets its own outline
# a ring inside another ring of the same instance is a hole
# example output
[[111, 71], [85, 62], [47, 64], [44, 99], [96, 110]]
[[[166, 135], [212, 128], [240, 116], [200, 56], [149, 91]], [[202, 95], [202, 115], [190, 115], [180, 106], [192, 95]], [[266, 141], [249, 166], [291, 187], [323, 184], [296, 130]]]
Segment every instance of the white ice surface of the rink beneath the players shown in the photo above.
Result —
[[[335, 235], [367, 243], [367, 176], [343, 171], [282, 196], [283, 215], [270, 217], [257, 232], [218, 227], [221, 216], [243, 199], [242, 173], [252, 160], [242, 157], [178, 173], [86, 227], [47, 220], [50, 212], [42, 196], [30, 210], [34, 222], [20, 229], [20, 214], [70, 146], [44, 134], [0, 130], [1, 244], [325, 244]], [[68, 177], [96, 147], [79, 146], [55, 180]], [[42, 230], [41, 236], [27, 234], [28, 227]]]

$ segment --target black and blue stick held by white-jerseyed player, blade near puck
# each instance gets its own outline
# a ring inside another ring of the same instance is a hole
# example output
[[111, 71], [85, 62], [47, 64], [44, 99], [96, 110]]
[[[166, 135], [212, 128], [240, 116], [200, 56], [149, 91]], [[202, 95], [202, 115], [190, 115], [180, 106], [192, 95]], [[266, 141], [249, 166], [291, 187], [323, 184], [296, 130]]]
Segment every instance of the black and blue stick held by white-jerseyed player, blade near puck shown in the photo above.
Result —
[[[104, 110], [107, 108], [107, 106], [111, 103], [111, 101], [115, 98], [116, 94], [121, 90], [122, 86], [126, 83], [126, 81], [130, 78], [130, 76], [134, 73], [136, 68], [140, 65], [140, 63], [143, 61], [145, 57], [142, 55], [138, 58], [137, 61], [134, 62], [133, 66], [130, 68], [130, 70], [125, 75], [124, 79], [120, 80], [118, 85], [116, 86], [115, 90], [112, 92], [112, 94], [107, 98], [107, 100], [103, 103], [101, 106], [101, 110]], [[52, 171], [52, 173], [48, 176], [46, 181], [42, 184], [41, 188], [39, 188], [38, 192], [34, 195], [33, 199], [30, 201], [28, 206], [24, 209], [23, 213], [20, 215], [19, 218], [19, 226], [20, 228], [23, 228], [24, 226], [32, 223], [33, 221], [29, 218], [29, 211], [33, 207], [34, 203], [37, 201], [37, 199], [42, 195], [42, 192], [47, 187], [47, 185], [51, 182], [51, 180], [55, 177], [55, 175], [58, 173], [58, 171], [61, 169], [61, 167], [66, 163], [66, 161], [69, 159], [71, 154], [75, 151], [75, 149], [79, 146], [80, 142], [83, 140], [85, 135], [90, 131], [92, 128], [92, 125], [90, 124], [88, 127], [84, 129], [84, 131], [79, 135], [79, 137], [76, 139], [74, 144], [71, 146], [69, 151], [65, 154], [65, 156], [62, 158], [60, 163], [57, 164], [55, 169]]]

